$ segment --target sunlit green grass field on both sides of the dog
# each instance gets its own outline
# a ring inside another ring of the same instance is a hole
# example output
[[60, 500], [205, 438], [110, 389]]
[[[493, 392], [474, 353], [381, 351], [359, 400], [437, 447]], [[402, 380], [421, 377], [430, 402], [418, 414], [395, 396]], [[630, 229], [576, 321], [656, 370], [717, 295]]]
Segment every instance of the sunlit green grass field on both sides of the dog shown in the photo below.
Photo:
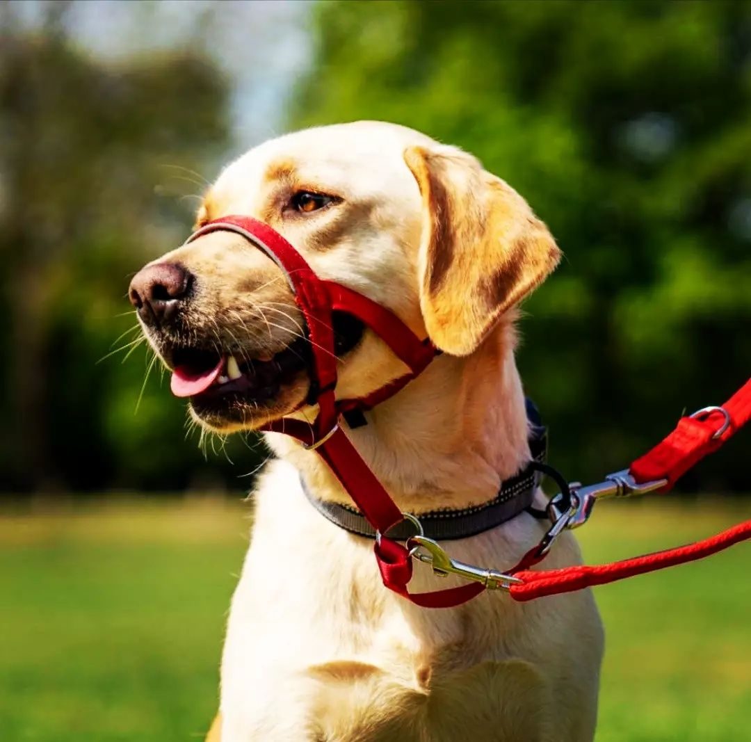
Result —
[[[0, 511], [0, 740], [200, 740], [247, 511], [222, 499]], [[749, 517], [747, 501], [679, 510], [653, 496], [601, 505], [579, 533], [594, 562]], [[748, 565], [740, 545], [597, 589], [599, 742], [751, 739]]]

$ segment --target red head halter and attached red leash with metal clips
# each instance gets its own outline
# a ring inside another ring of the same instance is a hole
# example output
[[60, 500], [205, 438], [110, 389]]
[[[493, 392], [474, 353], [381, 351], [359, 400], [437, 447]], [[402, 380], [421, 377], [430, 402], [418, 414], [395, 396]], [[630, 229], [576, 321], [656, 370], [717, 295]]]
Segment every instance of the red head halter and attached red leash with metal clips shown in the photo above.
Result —
[[[312, 425], [293, 418], [282, 418], [268, 424], [266, 430], [293, 436], [305, 448], [321, 455], [375, 528], [375, 557], [383, 582], [390, 590], [425, 608], [460, 605], [486, 589], [507, 590], [518, 601], [532, 600], [683, 564], [751, 538], [749, 520], [704, 541], [631, 560], [602, 566], [573, 566], [547, 572], [529, 569], [544, 559], [563, 529], [586, 522], [597, 497], [614, 494], [623, 496], [656, 489], [669, 490], [695, 463], [716, 451], [751, 418], [749, 379], [722, 408], [706, 408], [691, 417], [681, 418], [676, 430], [652, 451], [636, 460], [629, 472], [619, 472], [611, 475], [607, 482], [567, 493], [566, 508], [563, 511], [556, 510], [556, 498], [553, 498], [548, 505], [548, 512], [553, 516], [553, 526], [541, 544], [526, 553], [520, 563], [508, 573], [452, 560], [436, 541], [424, 537], [417, 518], [400, 511], [357, 453], [344, 430], [339, 427], [342, 415], [346, 418], [348, 413], [361, 413], [397, 394], [433, 360], [438, 352], [436, 348], [429, 340], [419, 339], [385, 307], [350, 288], [320, 279], [303, 256], [281, 234], [263, 222], [248, 216], [225, 216], [199, 229], [189, 237], [188, 242], [202, 234], [219, 230], [243, 235], [249, 243], [279, 265], [287, 276], [297, 306], [305, 318], [313, 368], [310, 392], [303, 404], [317, 404], [318, 413]], [[332, 312], [335, 310], [354, 315], [378, 334], [409, 371], [362, 399], [337, 400], [337, 368], [332, 329]], [[562, 481], [562, 484], [566, 482]], [[384, 535], [403, 520], [409, 520], [415, 526], [415, 535], [406, 544], [400, 544]], [[459, 575], [469, 582], [448, 590], [411, 594], [407, 585], [412, 579], [414, 559], [430, 564], [436, 573]]]

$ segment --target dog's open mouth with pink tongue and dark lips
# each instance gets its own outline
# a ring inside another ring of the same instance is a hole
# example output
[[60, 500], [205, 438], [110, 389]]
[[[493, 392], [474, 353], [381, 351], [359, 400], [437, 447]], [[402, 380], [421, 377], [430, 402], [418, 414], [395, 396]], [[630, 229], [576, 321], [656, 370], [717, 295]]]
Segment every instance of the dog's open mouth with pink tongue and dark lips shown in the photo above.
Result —
[[[362, 322], [333, 312], [334, 352], [344, 357], [359, 344]], [[294, 338], [276, 354], [252, 348], [170, 345], [161, 348], [172, 369], [170, 388], [190, 400], [193, 412], [212, 427], [255, 427], [249, 421], [281, 417], [306, 397], [315, 378], [307, 337]], [[263, 413], [259, 415], [259, 413]]]

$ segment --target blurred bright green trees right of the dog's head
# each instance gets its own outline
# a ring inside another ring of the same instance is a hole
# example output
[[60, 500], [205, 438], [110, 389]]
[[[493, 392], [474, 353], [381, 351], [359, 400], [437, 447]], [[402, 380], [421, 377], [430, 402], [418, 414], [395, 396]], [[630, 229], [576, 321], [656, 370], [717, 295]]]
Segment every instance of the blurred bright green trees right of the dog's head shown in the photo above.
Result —
[[[295, 125], [421, 129], [550, 225], [567, 258], [520, 366], [572, 477], [748, 378], [751, 3], [322, 2], [299, 93]], [[748, 491], [743, 448], [702, 484]]]

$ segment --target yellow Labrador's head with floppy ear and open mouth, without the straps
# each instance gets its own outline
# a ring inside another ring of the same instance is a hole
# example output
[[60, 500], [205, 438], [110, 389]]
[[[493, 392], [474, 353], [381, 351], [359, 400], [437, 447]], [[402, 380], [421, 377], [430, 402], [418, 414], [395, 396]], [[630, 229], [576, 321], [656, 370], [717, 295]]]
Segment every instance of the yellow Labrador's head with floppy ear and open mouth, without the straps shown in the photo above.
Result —
[[[459, 356], [559, 260], [523, 198], [475, 158], [378, 122], [308, 129], [252, 149], [207, 192], [198, 225], [230, 214], [267, 222], [318, 276]], [[182, 390], [201, 390], [192, 414], [207, 427], [261, 427], [306, 400], [303, 317], [279, 267], [239, 234], [213, 232], [168, 252], [137, 273], [130, 297], [155, 351], [181, 369]], [[340, 396], [363, 396], [404, 373], [354, 318], [335, 313], [334, 330]]]

